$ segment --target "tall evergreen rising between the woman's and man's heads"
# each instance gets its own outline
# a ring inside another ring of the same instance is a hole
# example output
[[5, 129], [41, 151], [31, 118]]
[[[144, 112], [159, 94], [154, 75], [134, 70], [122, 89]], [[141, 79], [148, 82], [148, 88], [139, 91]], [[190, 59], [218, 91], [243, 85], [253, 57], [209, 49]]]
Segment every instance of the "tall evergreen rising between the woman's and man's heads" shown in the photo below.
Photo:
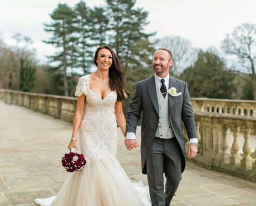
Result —
[[[123, 64], [124, 71], [131, 68], [132, 63], [143, 65], [140, 56], [144, 48], [138, 48], [136, 42], [147, 40], [154, 33], [143, 32], [148, 12], [143, 9], [133, 9], [135, 0], [107, 0], [110, 16], [110, 28], [113, 31], [110, 44]], [[149, 42], [148, 42], [149, 43]], [[149, 43], [150, 45], [150, 43]], [[137, 48], [136, 48], [137, 47]]]

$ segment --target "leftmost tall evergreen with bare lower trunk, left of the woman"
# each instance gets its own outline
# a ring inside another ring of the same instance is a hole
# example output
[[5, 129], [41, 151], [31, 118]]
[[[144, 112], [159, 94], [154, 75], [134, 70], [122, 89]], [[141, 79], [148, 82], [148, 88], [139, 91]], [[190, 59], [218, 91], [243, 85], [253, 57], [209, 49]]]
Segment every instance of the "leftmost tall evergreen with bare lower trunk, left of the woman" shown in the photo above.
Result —
[[[74, 45], [78, 41], [78, 37], [74, 36], [74, 33], [78, 31], [76, 27], [76, 13], [67, 4], [58, 4], [58, 7], [50, 14], [53, 20], [52, 24], [44, 24], [47, 32], [52, 32], [53, 37], [49, 41], [43, 41], [47, 44], [52, 44], [59, 49], [55, 55], [50, 56], [52, 61], [60, 62], [55, 67], [57, 73], [63, 75], [63, 86], [65, 96], [68, 96], [68, 78], [67, 68], [72, 65], [72, 59], [70, 56], [75, 52]], [[70, 64], [71, 62], [71, 64]]]

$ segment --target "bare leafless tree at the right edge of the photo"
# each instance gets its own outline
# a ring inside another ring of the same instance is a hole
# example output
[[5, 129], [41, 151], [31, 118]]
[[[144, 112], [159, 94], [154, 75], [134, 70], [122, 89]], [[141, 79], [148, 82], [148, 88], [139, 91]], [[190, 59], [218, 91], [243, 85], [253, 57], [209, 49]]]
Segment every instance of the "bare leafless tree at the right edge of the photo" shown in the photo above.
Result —
[[253, 99], [256, 100], [256, 24], [244, 23], [236, 27], [231, 35], [226, 36], [221, 47], [225, 53], [238, 57], [240, 64], [250, 74]]

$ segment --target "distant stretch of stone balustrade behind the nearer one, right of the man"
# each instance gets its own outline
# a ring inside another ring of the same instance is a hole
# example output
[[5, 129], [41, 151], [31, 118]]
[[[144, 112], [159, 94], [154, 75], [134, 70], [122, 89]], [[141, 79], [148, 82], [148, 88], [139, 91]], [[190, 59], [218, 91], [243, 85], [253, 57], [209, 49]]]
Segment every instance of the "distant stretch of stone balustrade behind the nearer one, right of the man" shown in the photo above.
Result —
[[191, 98], [194, 111], [256, 116], [256, 101]]

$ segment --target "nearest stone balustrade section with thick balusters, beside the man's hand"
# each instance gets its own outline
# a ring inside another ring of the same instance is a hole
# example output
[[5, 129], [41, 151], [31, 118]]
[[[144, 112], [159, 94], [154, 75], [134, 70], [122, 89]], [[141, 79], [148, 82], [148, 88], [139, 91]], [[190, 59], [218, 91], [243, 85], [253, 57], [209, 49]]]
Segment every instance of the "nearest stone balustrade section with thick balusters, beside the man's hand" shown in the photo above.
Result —
[[[208, 169], [256, 182], [256, 160], [253, 159], [256, 144], [249, 141], [255, 139], [256, 117], [206, 112], [194, 114], [199, 152], [192, 161]], [[238, 137], [243, 141], [238, 141]]]

